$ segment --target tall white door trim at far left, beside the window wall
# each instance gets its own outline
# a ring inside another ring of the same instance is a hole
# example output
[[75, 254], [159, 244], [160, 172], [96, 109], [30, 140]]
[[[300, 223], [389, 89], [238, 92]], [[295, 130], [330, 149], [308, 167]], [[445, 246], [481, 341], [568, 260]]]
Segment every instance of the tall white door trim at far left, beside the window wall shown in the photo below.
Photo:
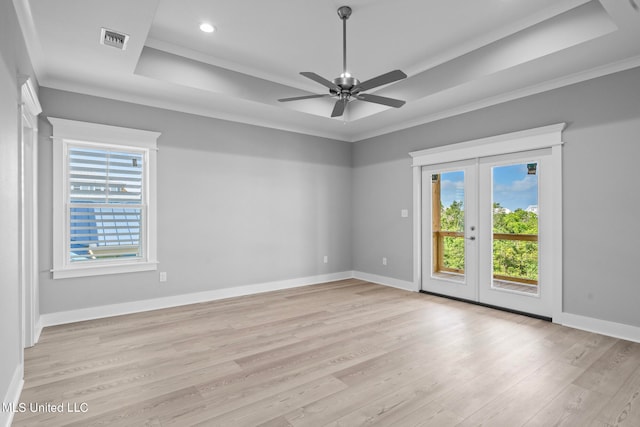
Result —
[[38, 95], [29, 77], [20, 88], [20, 312], [22, 347], [38, 341]]

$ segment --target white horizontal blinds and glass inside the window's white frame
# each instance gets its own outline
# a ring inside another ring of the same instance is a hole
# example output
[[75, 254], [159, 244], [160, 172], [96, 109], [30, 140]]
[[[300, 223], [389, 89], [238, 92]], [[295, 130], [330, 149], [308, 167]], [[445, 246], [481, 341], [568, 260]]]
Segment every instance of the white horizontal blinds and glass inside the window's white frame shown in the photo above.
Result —
[[68, 145], [68, 262], [143, 254], [144, 152]]

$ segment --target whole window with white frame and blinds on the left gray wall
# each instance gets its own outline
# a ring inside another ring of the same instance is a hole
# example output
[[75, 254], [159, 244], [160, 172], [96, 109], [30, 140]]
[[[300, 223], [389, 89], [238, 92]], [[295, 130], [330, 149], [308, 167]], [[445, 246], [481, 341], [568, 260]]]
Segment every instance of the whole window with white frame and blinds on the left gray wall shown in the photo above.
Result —
[[148, 271], [156, 260], [157, 132], [53, 124], [53, 278]]

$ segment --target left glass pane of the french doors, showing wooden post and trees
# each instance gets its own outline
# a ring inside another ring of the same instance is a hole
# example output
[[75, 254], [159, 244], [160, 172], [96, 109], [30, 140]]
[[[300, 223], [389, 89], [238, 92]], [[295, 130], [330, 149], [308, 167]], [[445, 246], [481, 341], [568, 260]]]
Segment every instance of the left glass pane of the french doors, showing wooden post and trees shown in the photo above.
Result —
[[464, 281], [464, 171], [431, 176], [432, 274]]

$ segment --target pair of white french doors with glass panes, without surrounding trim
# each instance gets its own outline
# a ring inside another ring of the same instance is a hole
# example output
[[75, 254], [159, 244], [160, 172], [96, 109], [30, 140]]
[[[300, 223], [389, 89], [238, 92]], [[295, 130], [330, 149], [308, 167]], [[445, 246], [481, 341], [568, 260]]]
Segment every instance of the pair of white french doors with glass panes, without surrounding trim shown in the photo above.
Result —
[[421, 168], [422, 290], [552, 317], [551, 154]]

